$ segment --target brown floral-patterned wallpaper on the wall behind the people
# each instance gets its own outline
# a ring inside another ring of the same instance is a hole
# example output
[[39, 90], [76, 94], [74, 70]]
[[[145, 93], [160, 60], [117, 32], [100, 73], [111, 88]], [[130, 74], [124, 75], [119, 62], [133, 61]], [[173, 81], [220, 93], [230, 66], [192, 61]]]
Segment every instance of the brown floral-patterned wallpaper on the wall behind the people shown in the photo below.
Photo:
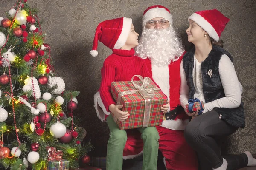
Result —
[[[15, 0], [0, 0], [0, 17]], [[243, 85], [246, 127], [228, 138], [228, 153], [250, 150], [256, 153], [256, 1], [255, 0], [28, 0], [39, 10], [46, 42], [51, 45], [55, 70], [63, 77], [67, 89], [81, 91], [75, 111], [87, 130], [95, 149], [91, 156], [105, 156], [108, 126], [93, 108], [93, 95], [99, 88], [100, 69], [111, 50], [99, 43], [98, 57], [91, 57], [94, 31], [99, 22], [115, 17], [131, 17], [141, 32], [143, 11], [151, 5], [169, 8], [174, 26], [186, 49], [187, 17], [195, 11], [217, 8], [230, 18], [222, 33], [224, 48], [234, 57], [234, 65]]]

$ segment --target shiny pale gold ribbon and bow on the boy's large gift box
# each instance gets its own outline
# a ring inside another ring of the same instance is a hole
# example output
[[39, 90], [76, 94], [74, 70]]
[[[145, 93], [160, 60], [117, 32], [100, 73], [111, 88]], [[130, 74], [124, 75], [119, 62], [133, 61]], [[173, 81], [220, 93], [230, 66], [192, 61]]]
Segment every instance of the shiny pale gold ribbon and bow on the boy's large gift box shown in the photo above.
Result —
[[[138, 81], [134, 81], [134, 77], [138, 77], [142, 81], [142, 85], [139, 85]], [[130, 90], [130, 91], [122, 91], [118, 94], [117, 97], [117, 105], [120, 105], [121, 98], [124, 95], [134, 94], [139, 92], [141, 96], [145, 99], [145, 110], [144, 110], [144, 118], [143, 118], [143, 127], [148, 127], [150, 121], [150, 108], [151, 108], [151, 99], [154, 98], [154, 91], [160, 90], [159, 88], [148, 88], [150, 85], [151, 79], [149, 77], [142, 77], [140, 75], [134, 75], [131, 78], [131, 83], [137, 90]], [[117, 119], [114, 116], [114, 121], [116, 122]]]

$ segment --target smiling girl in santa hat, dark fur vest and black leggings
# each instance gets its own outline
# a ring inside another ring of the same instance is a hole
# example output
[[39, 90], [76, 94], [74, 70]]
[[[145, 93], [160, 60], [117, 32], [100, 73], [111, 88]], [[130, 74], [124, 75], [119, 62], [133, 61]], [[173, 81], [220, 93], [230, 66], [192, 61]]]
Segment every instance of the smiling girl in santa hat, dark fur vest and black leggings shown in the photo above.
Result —
[[[205, 103], [203, 114], [192, 117], [186, 126], [186, 141], [198, 152], [199, 160], [213, 170], [236, 170], [256, 165], [250, 152], [238, 156], [221, 156], [218, 139], [244, 128], [244, 108], [233, 58], [219, 41], [229, 19], [216, 9], [199, 11], [189, 18], [188, 41], [195, 48], [188, 51], [180, 65], [180, 102], [189, 98]], [[211, 169], [210, 168], [210, 169]], [[207, 170], [205, 167], [203, 170]]]

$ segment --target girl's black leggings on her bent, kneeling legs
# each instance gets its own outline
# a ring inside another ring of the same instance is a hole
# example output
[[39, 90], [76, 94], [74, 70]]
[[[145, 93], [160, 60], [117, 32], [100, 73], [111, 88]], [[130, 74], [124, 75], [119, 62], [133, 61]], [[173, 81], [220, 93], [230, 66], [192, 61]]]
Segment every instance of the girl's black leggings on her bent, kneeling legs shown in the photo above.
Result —
[[[219, 119], [216, 111], [209, 111], [196, 116], [186, 126], [184, 131], [188, 144], [197, 151], [199, 161], [203, 161], [212, 168], [218, 168], [223, 163], [218, 139], [236, 132], [238, 127], [227, 124]], [[245, 153], [239, 156], [223, 156], [228, 162], [227, 170], [246, 167], [248, 158]], [[204, 159], [204, 160], [202, 160]], [[205, 168], [203, 170], [206, 170]]]

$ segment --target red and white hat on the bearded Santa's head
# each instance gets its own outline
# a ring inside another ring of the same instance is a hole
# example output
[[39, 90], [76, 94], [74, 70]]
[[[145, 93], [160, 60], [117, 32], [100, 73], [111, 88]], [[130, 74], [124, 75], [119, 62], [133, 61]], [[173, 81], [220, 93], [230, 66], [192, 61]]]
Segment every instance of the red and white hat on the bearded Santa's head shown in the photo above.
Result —
[[169, 9], [161, 6], [161, 5], [154, 5], [148, 7], [144, 13], [142, 18], [142, 28], [144, 29], [146, 26], [146, 23], [157, 17], [162, 17], [169, 21], [170, 25], [172, 25], [172, 14], [170, 13]]

